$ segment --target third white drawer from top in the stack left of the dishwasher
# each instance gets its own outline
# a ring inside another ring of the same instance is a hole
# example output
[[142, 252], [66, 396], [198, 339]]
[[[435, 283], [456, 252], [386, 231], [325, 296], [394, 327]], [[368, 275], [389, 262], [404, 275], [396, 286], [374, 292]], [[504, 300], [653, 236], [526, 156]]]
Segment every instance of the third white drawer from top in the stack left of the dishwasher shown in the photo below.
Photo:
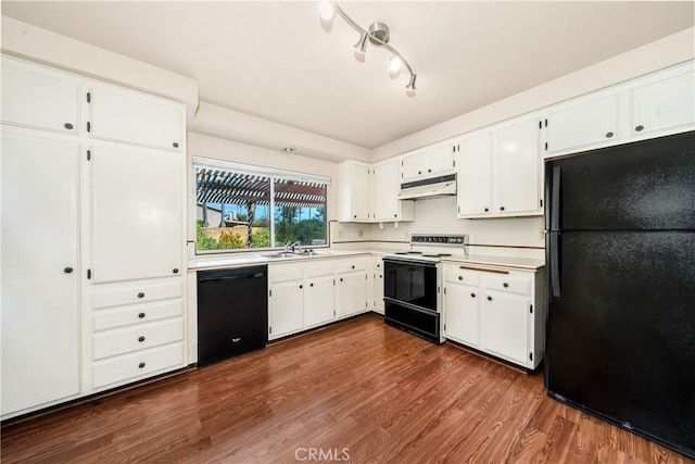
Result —
[[93, 336], [94, 360], [157, 347], [184, 339], [180, 318], [108, 330]]

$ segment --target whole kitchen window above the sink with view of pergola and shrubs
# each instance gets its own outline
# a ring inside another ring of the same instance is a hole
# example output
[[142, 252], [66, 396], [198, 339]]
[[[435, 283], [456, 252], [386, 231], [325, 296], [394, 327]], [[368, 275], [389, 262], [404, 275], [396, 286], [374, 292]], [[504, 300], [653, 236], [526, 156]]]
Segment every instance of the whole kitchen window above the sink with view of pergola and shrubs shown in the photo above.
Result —
[[330, 178], [193, 158], [197, 252], [328, 242]]

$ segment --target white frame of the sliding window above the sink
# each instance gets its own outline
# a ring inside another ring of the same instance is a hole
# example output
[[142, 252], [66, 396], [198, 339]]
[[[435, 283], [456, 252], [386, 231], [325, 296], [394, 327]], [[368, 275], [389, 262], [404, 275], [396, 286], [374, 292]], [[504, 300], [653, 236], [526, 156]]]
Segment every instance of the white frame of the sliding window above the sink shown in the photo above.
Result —
[[[192, 178], [193, 178], [193, 208], [195, 213], [192, 215], [194, 218], [195, 227], [198, 225], [198, 170], [217, 170], [217, 171], [226, 171], [233, 174], [242, 174], [242, 175], [251, 175], [258, 177], [266, 177], [269, 184], [269, 199], [268, 199], [268, 234], [270, 238], [269, 247], [258, 247], [258, 248], [226, 248], [226, 249], [215, 249], [215, 250], [199, 250], [198, 248], [198, 239], [193, 240], [194, 250], [197, 255], [207, 255], [207, 254], [223, 254], [223, 253], [249, 253], [249, 252], [264, 252], [264, 251], [274, 251], [283, 249], [283, 244], [278, 244], [275, 242], [275, 230], [276, 230], [276, 218], [275, 218], [275, 203], [276, 203], [276, 183], [278, 179], [291, 180], [291, 181], [301, 181], [301, 183], [312, 183], [312, 184], [321, 184], [326, 189], [325, 201], [324, 201], [324, 221], [325, 221], [325, 231], [326, 231], [326, 243], [324, 244], [314, 244], [314, 246], [302, 246], [304, 248], [311, 247], [315, 248], [329, 248], [330, 247], [330, 221], [328, 220], [328, 197], [329, 197], [329, 186], [331, 185], [332, 179], [328, 176], [320, 176], [315, 174], [306, 174], [293, 171], [278, 170], [274, 167], [265, 167], [265, 166], [256, 166], [252, 164], [237, 163], [232, 161], [224, 161], [216, 160], [210, 158], [202, 156], [192, 156]], [[225, 204], [225, 203], [223, 203]], [[304, 206], [300, 206], [304, 208]]]

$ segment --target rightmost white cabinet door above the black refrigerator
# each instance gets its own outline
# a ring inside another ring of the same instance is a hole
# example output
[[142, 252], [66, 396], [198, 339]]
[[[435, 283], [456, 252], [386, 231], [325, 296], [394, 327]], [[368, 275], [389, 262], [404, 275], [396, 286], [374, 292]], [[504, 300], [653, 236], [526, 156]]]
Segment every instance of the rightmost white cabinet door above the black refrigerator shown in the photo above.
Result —
[[632, 135], [695, 123], [693, 71], [632, 90]]

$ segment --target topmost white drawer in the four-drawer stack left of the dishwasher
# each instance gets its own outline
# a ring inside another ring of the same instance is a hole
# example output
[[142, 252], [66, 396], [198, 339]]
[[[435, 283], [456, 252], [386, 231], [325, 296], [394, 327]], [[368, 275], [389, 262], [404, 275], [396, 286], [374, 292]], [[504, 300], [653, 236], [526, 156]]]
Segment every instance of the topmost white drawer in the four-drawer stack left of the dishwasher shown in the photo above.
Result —
[[94, 309], [147, 301], [181, 298], [184, 281], [180, 278], [168, 281], [148, 283], [144, 280], [96, 286], [92, 293]]

